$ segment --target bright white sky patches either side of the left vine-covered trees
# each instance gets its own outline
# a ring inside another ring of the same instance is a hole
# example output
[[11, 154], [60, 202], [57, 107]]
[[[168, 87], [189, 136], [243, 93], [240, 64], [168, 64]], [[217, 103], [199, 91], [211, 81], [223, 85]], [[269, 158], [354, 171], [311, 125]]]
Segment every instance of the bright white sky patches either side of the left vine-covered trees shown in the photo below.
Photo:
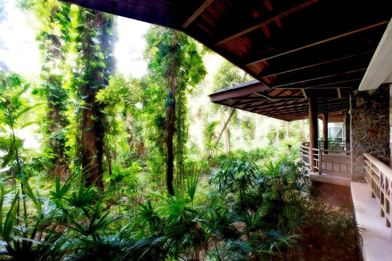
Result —
[[[33, 24], [13, 0], [8, 0], [5, 11], [5, 20], [0, 20], [0, 60], [17, 73], [38, 74], [40, 54]], [[147, 73], [147, 64], [142, 58], [145, 49], [143, 35], [149, 27], [144, 22], [118, 17], [114, 55], [117, 69], [122, 74], [140, 78]]]

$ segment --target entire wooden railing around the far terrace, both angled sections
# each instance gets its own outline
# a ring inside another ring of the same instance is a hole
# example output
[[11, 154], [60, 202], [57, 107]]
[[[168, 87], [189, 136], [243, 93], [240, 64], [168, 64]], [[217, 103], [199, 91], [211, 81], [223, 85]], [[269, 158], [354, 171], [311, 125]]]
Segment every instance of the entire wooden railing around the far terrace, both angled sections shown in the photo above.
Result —
[[[300, 158], [305, 165], [310, 167], [310, 147], [309, 142], [303, 143], [300, 148]], [[350, 150], [325, 150], [312, 149], [315, 165], [312, 166], [322, 172], [331, 172], [339, 176], [351, 176]]]

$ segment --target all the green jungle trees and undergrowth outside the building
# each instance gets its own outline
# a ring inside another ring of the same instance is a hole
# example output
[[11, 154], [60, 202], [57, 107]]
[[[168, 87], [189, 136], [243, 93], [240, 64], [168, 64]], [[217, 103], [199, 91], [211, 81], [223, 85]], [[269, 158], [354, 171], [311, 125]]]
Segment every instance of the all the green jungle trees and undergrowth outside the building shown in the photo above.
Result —
[[[218, 153], [222, 144], [215, 143], [214, 130], [227, 108], [220, 107], [219, 116], [218, 105], [201, 99], [251, 80], [240, 69], [223, 62], [209, 82], [204, 46], [152, 26], [145, 36], [149, 75], [125, 77], [115, 72], [114, 16], [56, 0], [21, 5], [39, 22], [42, 70], [32, 85], [0, 71], [2, 260], [358, 255], [350, 208], [321, 201], [303, 165], [288, 160], [299, 154], [298, 123], [290, 123], [283, 141], [281, 121], [239, 111], [230, 121], [235, 149]], [[46, 106], [39, 107], [43, 99]], [[172, 107], [175, 177], [169, 194], [164, 173]], [[24, 148], [17, 135], [22, 129], [41, 135], [39, 149]], [[81, 147], [94, 142], [83, 140], [83, 133], [94, 133], [98, 144], [88, 157], [90, 148]], [[97, 162], [102, 184], [81, 179], [91, 174], [91, 164], [82, 161]], [[53, 173], [58, 166], [67, 175]]]

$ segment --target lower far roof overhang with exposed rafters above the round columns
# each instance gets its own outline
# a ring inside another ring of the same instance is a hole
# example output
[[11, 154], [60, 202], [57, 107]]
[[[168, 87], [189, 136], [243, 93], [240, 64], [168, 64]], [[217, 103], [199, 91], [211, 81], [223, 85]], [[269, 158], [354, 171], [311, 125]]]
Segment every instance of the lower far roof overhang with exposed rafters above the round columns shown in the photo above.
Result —
[[309, 97], [317, 98], [319, 114], [343, 113], [350, 107], [347, 87], [268, 89], [252, 80], [210, 94], [214, 103], [285, 121], [309, 118]]

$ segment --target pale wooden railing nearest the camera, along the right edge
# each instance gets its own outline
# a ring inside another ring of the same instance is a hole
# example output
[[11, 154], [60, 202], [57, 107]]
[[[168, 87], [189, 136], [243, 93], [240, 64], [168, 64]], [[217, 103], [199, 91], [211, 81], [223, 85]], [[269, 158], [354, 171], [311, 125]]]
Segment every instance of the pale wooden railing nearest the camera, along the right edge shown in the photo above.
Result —
[[380, 216], [385, 217], [385, 225], [391, 227], [392, 208], [392, 169], [379, 159], [364, 153], [366, 181], [372, 191], [372, 197], [376, 198], [380, 205]]

